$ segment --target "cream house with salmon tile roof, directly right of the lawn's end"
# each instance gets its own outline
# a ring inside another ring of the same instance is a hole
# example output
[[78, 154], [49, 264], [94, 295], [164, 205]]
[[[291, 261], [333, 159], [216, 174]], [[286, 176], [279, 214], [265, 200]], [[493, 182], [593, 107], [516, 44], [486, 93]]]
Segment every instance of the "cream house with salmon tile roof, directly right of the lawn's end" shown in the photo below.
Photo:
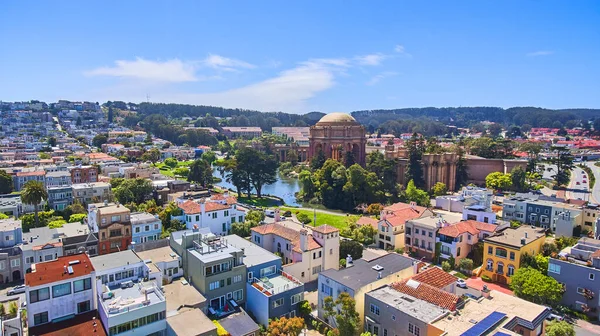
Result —
[[382, 249], [404, 248], [404, 224], [411, 219], [433, 216], [431, 210], [411, 203], [395, 203], [383, 208], [375, 242]]

